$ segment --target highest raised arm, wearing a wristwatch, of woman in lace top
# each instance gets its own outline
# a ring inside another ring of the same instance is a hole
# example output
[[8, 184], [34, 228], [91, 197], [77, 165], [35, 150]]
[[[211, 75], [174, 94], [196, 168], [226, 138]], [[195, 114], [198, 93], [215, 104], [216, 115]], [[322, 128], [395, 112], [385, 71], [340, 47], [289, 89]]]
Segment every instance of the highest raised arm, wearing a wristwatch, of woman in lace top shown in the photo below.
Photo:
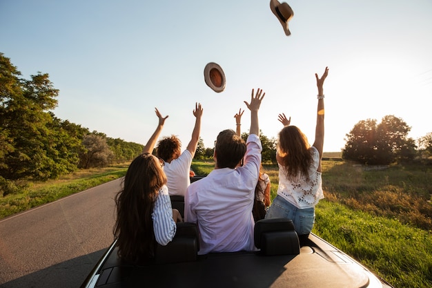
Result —
[[[324, 80], [328, 75], [328, 68], [324, 70], [324, 74], [320, 77], [315, 73], [315, 78], [317, 79], [317, 88], [318, 88], [318, 106], [317, 106], [317, 126], [315, 128], [315, 142], [313, 142], [313, 146], [317, 148], [320, 153], [320, 159], [322, 157], [322, 150], [324, 146]], [[317, 171], [321, 172], [321, 160], [320, 166]]]

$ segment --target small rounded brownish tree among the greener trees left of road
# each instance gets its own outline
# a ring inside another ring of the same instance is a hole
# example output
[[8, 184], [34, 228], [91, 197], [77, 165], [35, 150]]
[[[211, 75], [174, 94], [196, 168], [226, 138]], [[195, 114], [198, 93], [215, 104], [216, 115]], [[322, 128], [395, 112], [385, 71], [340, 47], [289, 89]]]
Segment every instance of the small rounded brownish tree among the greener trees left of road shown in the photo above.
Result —
[[80, 168], [104, 167], [110, 164], [114, 157], [106, 138], [101, 135], [91, 133], [84, 136], [83, 145], [86, 150], [81, 153]]

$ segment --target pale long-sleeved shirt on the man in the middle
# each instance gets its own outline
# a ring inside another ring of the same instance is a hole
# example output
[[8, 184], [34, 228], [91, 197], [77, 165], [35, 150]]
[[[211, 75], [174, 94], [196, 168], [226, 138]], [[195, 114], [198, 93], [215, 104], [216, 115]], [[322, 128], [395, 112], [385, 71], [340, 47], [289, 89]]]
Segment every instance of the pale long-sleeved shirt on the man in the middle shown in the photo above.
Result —
[[262, 146], [257, 135], [246, 145], [243, 166], [215, 169], [186, 191], [184, 217], [198, 224], [201, 255], [255, 250], [252, 207]]

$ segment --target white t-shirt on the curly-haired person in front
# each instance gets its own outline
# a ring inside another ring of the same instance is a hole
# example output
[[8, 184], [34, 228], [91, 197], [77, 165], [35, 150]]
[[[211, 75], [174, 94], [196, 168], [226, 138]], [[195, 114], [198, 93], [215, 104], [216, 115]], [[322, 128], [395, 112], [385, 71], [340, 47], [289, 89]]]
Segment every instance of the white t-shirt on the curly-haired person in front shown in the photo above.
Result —
[[171, 161], [165, 162], [164, 172], [168, 179], [168, 193], [170, 195], [184, 196], [186, 189], [190, 185], [190, 164], [192, 164], [192, 154], [188, 150], [183, 151], [180, 157]]

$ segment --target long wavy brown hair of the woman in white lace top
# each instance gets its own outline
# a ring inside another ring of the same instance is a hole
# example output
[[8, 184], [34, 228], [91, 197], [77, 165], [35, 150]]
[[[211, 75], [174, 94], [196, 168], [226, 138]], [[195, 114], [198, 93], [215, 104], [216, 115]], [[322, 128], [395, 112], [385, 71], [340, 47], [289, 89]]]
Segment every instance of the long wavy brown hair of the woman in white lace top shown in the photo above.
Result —
[[282, 128], [279, 132], [278, 148], [288, 179], [299, 180], [299, 174], [308, 178], [308, 169], [312, 162], [311, 147], [306, 135], [297, 126]]

